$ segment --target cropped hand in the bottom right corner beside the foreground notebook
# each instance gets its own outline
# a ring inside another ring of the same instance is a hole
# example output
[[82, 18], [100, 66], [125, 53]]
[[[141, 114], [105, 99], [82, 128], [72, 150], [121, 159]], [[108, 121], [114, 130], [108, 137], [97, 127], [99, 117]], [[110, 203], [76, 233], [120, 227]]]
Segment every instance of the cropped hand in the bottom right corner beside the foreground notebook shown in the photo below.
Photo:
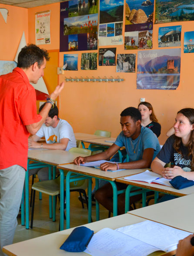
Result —
[[194, 246], [191, 245], [191, 238], [193, 236], [189, 235], [179, 241], [176, 256], [194, 256]]

